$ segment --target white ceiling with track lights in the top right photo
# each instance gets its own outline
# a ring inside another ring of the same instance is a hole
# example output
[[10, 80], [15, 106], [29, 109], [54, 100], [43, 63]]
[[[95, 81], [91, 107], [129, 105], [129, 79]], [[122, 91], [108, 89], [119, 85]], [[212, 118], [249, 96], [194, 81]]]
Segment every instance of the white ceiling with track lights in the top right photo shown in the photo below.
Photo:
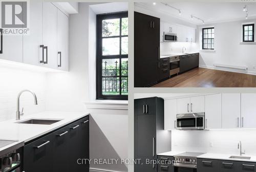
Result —
[[244, 5], [247, 5], [249, 9], [248, 18], [256, 17], [256, 3], [167, 2], [167, 4], [180, 9], [181, 15], [177, 10], [160, 2], [156, 5], [153, 3], [136, 3], [136, 6], [172, 15], [195, 25], [202, 25], [203, 23], [196, 18], [191, 19], [191, 15], [203, 19], [205, 24], [245, 19]]

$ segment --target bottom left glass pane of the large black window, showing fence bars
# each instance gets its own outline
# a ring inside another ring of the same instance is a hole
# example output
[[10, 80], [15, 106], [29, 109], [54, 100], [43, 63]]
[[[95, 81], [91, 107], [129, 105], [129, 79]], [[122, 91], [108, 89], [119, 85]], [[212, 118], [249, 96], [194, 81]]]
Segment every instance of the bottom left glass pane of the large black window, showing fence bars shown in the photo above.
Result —
[[119, 77], [102, 77], [102, 95], [120, 95]]

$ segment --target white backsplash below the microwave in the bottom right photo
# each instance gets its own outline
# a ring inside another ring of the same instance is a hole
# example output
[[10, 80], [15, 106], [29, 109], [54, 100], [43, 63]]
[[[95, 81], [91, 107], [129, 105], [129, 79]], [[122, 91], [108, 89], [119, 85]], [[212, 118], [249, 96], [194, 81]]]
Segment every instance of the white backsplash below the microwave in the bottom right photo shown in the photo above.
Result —
[[[172, 150], [239, 155], [242, 142], [245, 155], [256, 155], [256, 130], [172, 131]], [[211, 147], [212, 146], [212, 147]]]

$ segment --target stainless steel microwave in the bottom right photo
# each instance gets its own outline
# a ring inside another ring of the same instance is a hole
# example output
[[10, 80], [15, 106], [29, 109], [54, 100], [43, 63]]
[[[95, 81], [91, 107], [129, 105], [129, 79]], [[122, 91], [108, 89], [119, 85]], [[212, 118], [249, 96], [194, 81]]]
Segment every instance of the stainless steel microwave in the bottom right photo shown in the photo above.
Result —
[[177, 114], [177, 130], [204, 130], [204, 113]]

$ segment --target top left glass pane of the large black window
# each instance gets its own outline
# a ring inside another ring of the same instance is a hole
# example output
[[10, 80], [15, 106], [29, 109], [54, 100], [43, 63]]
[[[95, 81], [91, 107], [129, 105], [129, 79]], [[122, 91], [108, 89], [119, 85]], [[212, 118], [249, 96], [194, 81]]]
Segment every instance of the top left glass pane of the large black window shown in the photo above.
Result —
[[118, 36], [120, 35], [120, 19], [102, 20], [102, 36]]

